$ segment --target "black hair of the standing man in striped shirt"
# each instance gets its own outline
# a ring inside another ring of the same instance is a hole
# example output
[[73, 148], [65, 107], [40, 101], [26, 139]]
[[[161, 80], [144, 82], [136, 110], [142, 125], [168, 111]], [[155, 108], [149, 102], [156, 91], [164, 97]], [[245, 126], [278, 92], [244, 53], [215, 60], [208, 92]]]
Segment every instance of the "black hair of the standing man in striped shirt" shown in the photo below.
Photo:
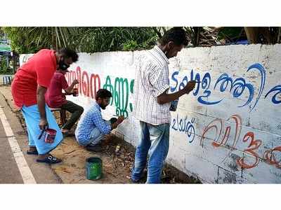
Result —
[[166, 45], [169, 41], [174, 41], [175, 45], [188, 45], [188, 38], [183, 27], [173, 27], [159, 39], [161, 45]]

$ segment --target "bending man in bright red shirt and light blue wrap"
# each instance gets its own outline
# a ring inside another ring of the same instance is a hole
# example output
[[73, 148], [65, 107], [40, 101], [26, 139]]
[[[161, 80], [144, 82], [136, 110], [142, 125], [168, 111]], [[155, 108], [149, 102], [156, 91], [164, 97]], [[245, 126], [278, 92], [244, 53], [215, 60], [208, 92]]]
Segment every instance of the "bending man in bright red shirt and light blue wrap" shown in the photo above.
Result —
[[[74, 50], [63, 48], [55, 52], [43, 49], [22, 64], [15, 73], [11, 85], [13, 101], [15, 106], [21, 109], [27, 125], [30, 145], [27, 154], [39, 155], [37, 162], [49, 164], [61, 162], [59, 158], [49, 154], [63, 140], [63, 134], [45, 104], [44, 95], [55, 71], [57, 69], [67, 70], [70, 64], [77, 60], [78, 55]], [[49, 137], [53, 138], [48, 138], [47, 132], [51, 132], [51, 130], [47, 129], [55, 130], [55, 137], [50, 135]]]

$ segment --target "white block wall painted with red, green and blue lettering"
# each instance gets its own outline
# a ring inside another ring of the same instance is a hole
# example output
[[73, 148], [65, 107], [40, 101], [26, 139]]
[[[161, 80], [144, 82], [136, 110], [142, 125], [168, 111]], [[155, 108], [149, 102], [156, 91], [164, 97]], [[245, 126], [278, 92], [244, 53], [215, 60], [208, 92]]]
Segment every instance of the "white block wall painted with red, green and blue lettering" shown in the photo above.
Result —
[[[133, 66], [143, 51], [79, 53], [66, 78], [89, 106], [99, 88], [113, 94], [105, 119], [124, 115], [117, 134], [138, 143]], [[203, 183], [281, 183], [281, 45], [188, 48], [170, 59], [171, 92], [200, 80], [172, 114], [166, 162]], [[30, 55], [21, 55], [20, 61]]]

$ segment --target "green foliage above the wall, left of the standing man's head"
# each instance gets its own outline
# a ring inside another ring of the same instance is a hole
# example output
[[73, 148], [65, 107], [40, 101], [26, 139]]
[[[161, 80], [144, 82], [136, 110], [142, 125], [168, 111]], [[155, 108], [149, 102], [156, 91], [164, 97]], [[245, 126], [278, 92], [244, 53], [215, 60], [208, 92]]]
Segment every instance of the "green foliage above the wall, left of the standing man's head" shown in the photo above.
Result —
[[152, 27], [3, 27], [12, 50], [34, 53], [41, 48], [69, 47], [78, 52], [151, 48], [157, 41]]

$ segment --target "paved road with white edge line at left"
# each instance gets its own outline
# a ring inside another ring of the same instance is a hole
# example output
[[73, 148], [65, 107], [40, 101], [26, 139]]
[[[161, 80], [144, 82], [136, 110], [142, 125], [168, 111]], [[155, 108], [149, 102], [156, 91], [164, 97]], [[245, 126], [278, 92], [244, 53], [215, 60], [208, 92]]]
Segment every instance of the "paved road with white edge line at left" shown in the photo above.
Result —
[[[49, 165], [38, 164], [36, 156], [26, 154], [27, 135], [13, 112], [12, 105], [7, 102], [11, 98], [10, 90], [0, 87], [0, 183], [61, 183]], [[3, 118], [6, 118], [4, 123]], [[11, 129], [7, 136], [9, 127]], [[30, 176], [33, 176], [34, 182]]]

